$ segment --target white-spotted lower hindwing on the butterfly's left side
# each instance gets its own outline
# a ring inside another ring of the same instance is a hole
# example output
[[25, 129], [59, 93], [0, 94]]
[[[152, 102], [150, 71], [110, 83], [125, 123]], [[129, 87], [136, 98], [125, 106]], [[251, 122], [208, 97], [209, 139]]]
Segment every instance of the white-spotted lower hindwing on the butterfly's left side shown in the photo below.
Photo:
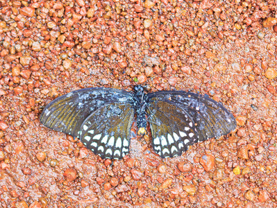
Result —
[[104, 105], [83, 121], [79, 138], [101, 158], [121, 159], [129, 152], [133, 115], [131, 104]]

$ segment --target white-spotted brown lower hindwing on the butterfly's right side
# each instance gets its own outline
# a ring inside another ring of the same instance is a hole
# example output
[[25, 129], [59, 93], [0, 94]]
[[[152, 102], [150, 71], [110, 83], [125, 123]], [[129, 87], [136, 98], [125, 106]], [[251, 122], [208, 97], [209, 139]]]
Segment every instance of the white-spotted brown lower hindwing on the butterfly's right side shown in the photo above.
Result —
[[[197, 141], [192, 119], [176, 105], [153, 98], [146, 112], [152, 132], [152, 146], [161, 157], [180, 156]], [[176, 114], [178, 112], [178, 114]]]

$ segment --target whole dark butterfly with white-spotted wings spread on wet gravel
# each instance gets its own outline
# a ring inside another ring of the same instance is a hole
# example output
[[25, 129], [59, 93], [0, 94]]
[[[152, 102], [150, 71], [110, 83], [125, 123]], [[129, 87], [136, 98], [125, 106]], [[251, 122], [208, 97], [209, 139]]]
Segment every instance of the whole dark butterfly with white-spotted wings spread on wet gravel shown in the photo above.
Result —
[[236, 121], [226, 108], [208, 96], [184, 91], [146, 94], [113, 88], [87, 88], [69, 92], [49, 103], [42, 124], [81, 139], [102, 159], [122, 159], [129, 153], [131, 125], [146, 134], [149, 122], [152, 147], [160, 157], [176, 157], [188, 146], [212, 137], [227, 135]]

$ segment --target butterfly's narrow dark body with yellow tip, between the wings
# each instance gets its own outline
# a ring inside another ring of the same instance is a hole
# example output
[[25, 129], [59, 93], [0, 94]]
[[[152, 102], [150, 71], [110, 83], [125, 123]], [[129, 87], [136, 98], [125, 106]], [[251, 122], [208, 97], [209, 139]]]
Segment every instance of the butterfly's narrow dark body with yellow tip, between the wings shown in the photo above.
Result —
[[137, 85], [135, 86], [135, 110], [137, 112], [137, 128], [139, 128], [137, 134], [144, 135], [146, 134], [146, 126], [147, 126], [147, 119], [146, 119], [146, 96], [144, 93], [144, 89], [142, 86]]

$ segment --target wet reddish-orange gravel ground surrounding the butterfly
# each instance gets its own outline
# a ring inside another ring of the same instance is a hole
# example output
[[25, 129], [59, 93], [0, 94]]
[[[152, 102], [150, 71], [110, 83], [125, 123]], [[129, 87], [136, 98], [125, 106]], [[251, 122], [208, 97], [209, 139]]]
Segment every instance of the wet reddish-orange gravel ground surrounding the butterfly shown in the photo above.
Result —
[[[277, 207], [276, 17], [272, 0], [0, 0], [0, 207]], [[161, 159], [133, 125], [110, 161], [38, 119], [137, 84], [209, 94], [237, 129]]]

